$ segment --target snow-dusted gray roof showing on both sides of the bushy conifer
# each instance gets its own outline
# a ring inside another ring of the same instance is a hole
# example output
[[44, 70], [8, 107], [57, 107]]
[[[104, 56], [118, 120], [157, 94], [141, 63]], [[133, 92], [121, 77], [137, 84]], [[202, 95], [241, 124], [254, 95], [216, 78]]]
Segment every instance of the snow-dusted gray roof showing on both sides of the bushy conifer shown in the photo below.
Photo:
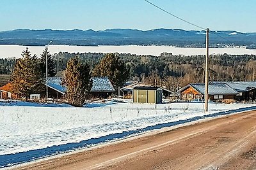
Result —
[[[62, 85], [62, 80], [60, 77], [49, 77], [48, 87], [65, 94], [66, 87]], [[91, 92], [115, 92], [115, 89], [107, 77], [94, 77]]]

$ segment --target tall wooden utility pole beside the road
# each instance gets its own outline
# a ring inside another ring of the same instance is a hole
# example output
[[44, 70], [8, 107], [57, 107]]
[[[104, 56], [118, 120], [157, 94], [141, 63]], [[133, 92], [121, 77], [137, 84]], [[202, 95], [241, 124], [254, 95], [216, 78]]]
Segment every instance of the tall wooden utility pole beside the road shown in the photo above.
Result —
[[205, 105], [205, 111], [208, 111], [208, 83], [209, 83], [209, 29], [207, 28], [206, 31], [206, 55], [205, 55], [205, 81], [204, 81], [204, 86], [205, 86], [205, 92], [204, 92], [204, 105]]

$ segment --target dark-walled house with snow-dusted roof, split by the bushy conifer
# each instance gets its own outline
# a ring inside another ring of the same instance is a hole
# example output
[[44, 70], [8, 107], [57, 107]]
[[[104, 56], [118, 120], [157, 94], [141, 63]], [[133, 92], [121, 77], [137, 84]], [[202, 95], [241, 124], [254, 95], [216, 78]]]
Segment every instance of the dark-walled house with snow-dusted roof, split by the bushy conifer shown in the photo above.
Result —
[[[48, 78], [49, 97], [60, 98], [66, 94], [66, 87], [62, 85], [63, 78]], [[108, 97], [115, 92], [115, 89], [107, 77], [93, 77], [90, 94], [95, 97]]]

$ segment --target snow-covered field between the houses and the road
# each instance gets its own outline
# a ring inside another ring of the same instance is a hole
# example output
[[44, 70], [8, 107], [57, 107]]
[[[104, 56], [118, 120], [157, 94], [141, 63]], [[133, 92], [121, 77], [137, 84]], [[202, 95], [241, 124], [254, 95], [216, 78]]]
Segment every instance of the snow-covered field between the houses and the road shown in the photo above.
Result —
[[4, 155], [12, 153], [79, 143], [256, 104], [211, 103], [208, 113], [204, 112], [203, 106], [202, 103], [155, 105], [108, 101], [74, 108], [67, 104], [0, 101], [0, 157], [3, 159]]

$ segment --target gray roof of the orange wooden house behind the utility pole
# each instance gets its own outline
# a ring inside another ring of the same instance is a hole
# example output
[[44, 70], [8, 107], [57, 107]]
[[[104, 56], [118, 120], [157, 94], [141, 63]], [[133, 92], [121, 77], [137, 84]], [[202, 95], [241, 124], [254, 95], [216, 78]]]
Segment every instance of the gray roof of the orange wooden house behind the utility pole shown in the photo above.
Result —
[[[203, 83], [191, 83], [186, 85], [185, 87], [182, 87], [178, 92], [181, 92], [188, 87], [193, 87], [196, 91], [198, 91], [200, 94], [204, 94], [205, 92], [205, 86]], [[237, 94], [238, 92], [226, 83], [212, 83], [209, 84], [209, 94], [214, 95], [214, 94]]]

